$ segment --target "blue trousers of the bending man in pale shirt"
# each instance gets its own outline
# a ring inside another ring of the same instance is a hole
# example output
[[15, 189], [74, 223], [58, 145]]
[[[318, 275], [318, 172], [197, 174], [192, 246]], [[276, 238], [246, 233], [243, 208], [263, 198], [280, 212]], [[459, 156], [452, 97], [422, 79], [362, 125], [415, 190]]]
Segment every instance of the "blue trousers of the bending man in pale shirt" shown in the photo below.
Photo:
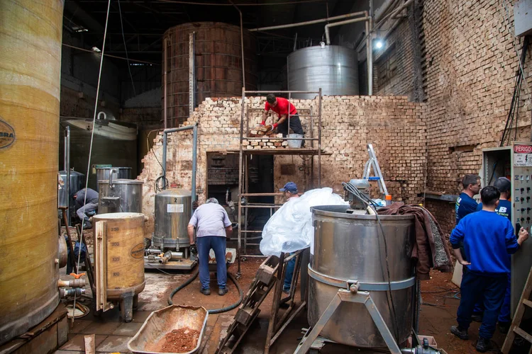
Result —
[[209, 289], [210, 287], [209, 251], [211, 249], [214, 249], [214, 255], [216, 256], [216, 280], [218, 280], [218, 287], [226, 287], [226, 238], [224, 236], [201, 236], [196, 239], [196, 246], [198, 248], [199, 282], [201, 282], [201, 289]]

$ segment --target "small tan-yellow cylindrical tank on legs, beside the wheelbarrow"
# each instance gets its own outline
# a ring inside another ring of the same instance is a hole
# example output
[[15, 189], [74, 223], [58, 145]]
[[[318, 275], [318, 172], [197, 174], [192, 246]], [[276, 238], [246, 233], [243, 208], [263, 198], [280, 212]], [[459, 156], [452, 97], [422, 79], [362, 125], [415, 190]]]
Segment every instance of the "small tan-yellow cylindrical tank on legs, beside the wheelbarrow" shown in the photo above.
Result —
[[[122, 318], [129, 322], [132, 305], [145, 286], [144, 215], [136, 212], [96, 215], [94, 230], [96, 302], [105, 292], [108, 300], [120, 302]], [[106, 304], [98, 302], [96, 306]]]

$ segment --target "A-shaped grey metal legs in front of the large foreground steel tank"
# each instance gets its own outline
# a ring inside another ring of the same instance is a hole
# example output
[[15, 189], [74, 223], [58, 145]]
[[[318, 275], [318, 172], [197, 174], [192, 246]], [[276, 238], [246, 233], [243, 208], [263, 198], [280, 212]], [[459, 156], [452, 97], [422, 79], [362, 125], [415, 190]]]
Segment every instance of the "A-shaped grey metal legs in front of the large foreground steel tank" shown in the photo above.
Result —
[[[328, 305], [325, 312], [323, 312], [320, 319], [318, 319], [316, 325], [306, 331], [305, 335], [301, 339], [301, 342], [299, 342], [299, 345], [294, 351], [294, 354], [307, 353], [309, 349], [313, 347], [314, 341], [316, 341], [316, 338], [318, 338], [319, 333], [321, 333], [323, 327], [326, 326], [329, 319], [331, 319], [331, 316], [333, 316], [333, 314], [336, 312], [336, 309], [338, 309], [338, 306], [340, 306], [342, 302], [355, 302], [358, 304], [364, 304], [367, 312], [370, 313], [375, 326], [377, 326], [382, 338], [384, 338], [390, 353], [401, 354], [401, 350], [399, 349], [394, 336], [392, 336], [392, 332], [389, 331], [384, 319], [382, 319], [379, 309], [377, 309], [375, 306], [375, 302], [373, 302], [370, 292], [358, 291], [358, 284], [349, 285], [349, 290], [338, 290], [336, 296], [333, 297], [331, 303]], [[321, 348], [321, 346], [323, 346], [323, 341], [316, 344], [317, 348]]]

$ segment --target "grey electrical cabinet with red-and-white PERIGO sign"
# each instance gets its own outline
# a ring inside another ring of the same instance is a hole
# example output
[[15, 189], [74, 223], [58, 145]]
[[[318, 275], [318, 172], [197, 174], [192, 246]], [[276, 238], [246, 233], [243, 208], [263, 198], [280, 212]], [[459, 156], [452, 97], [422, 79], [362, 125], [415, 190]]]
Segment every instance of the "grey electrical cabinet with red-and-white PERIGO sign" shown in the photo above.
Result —
[[[514, 142], [509, 147], [482, 150], [482, 187], [497, 178], [511, 181], [511, 222], [519, 232], [532, 227], [532, 142]], [[532, 234], [532, 232], [531, 232]], [[532, 238], [511, 257], [511, 313], [514, 314], [532, 267]]]

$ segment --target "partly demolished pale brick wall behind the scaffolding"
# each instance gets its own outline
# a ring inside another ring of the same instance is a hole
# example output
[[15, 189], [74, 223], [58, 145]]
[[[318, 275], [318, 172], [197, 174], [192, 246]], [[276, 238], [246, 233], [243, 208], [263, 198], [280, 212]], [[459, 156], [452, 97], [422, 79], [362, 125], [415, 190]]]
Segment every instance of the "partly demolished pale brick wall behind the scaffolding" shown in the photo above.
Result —
[[[260, 122], [262, 98], [247, 100], [250, 126]], [[317, 113], [318, 101], [294, 100], [301, 114]], [[408, 98], [377, 96], [323, 97], [321, 185], [342, 193], [341, 182], [360, 178], [367, 161], [366, 144], [373, 143], [390, 193], [394, 199], [420, 202], [417, 193], [423, 188], [426, 169], [425, 105], [411, 103]], [[207, 98], [185, 122], [199, 122], [197, 149], [197, 193], [199, 201], [206, 198], [206, 153], [236, 152], [239, 148], [241, 105], [238, 98]], [[246, 116], [248, 109], [246, 108]], [[304, 130], [310, 136], [317, 122], [303, 118]], [[307, 142], [307, 144], [310, 144]], [[161, 175], [162, 135], [155, 138], [155, 147], [144, 157], [144, 170], [138, 177], [144, 182], [143, 212], [150, 217], [153, 229], [155, 181]], [[157, 157], [157, 159], [155, 158]], [[317, 187], [318, 167], [315, 160], [314, 186]], [[294, 164], [294, 175], [284, 176], [282, 164]], [[298, 183], [303, 192], [312, 188], [309, 156], [275, 156], [274, 186], [287, 181]], [[169, 135], [167, 178], [170, 185], [190, 189], [192, 169], [192, 131]]]

